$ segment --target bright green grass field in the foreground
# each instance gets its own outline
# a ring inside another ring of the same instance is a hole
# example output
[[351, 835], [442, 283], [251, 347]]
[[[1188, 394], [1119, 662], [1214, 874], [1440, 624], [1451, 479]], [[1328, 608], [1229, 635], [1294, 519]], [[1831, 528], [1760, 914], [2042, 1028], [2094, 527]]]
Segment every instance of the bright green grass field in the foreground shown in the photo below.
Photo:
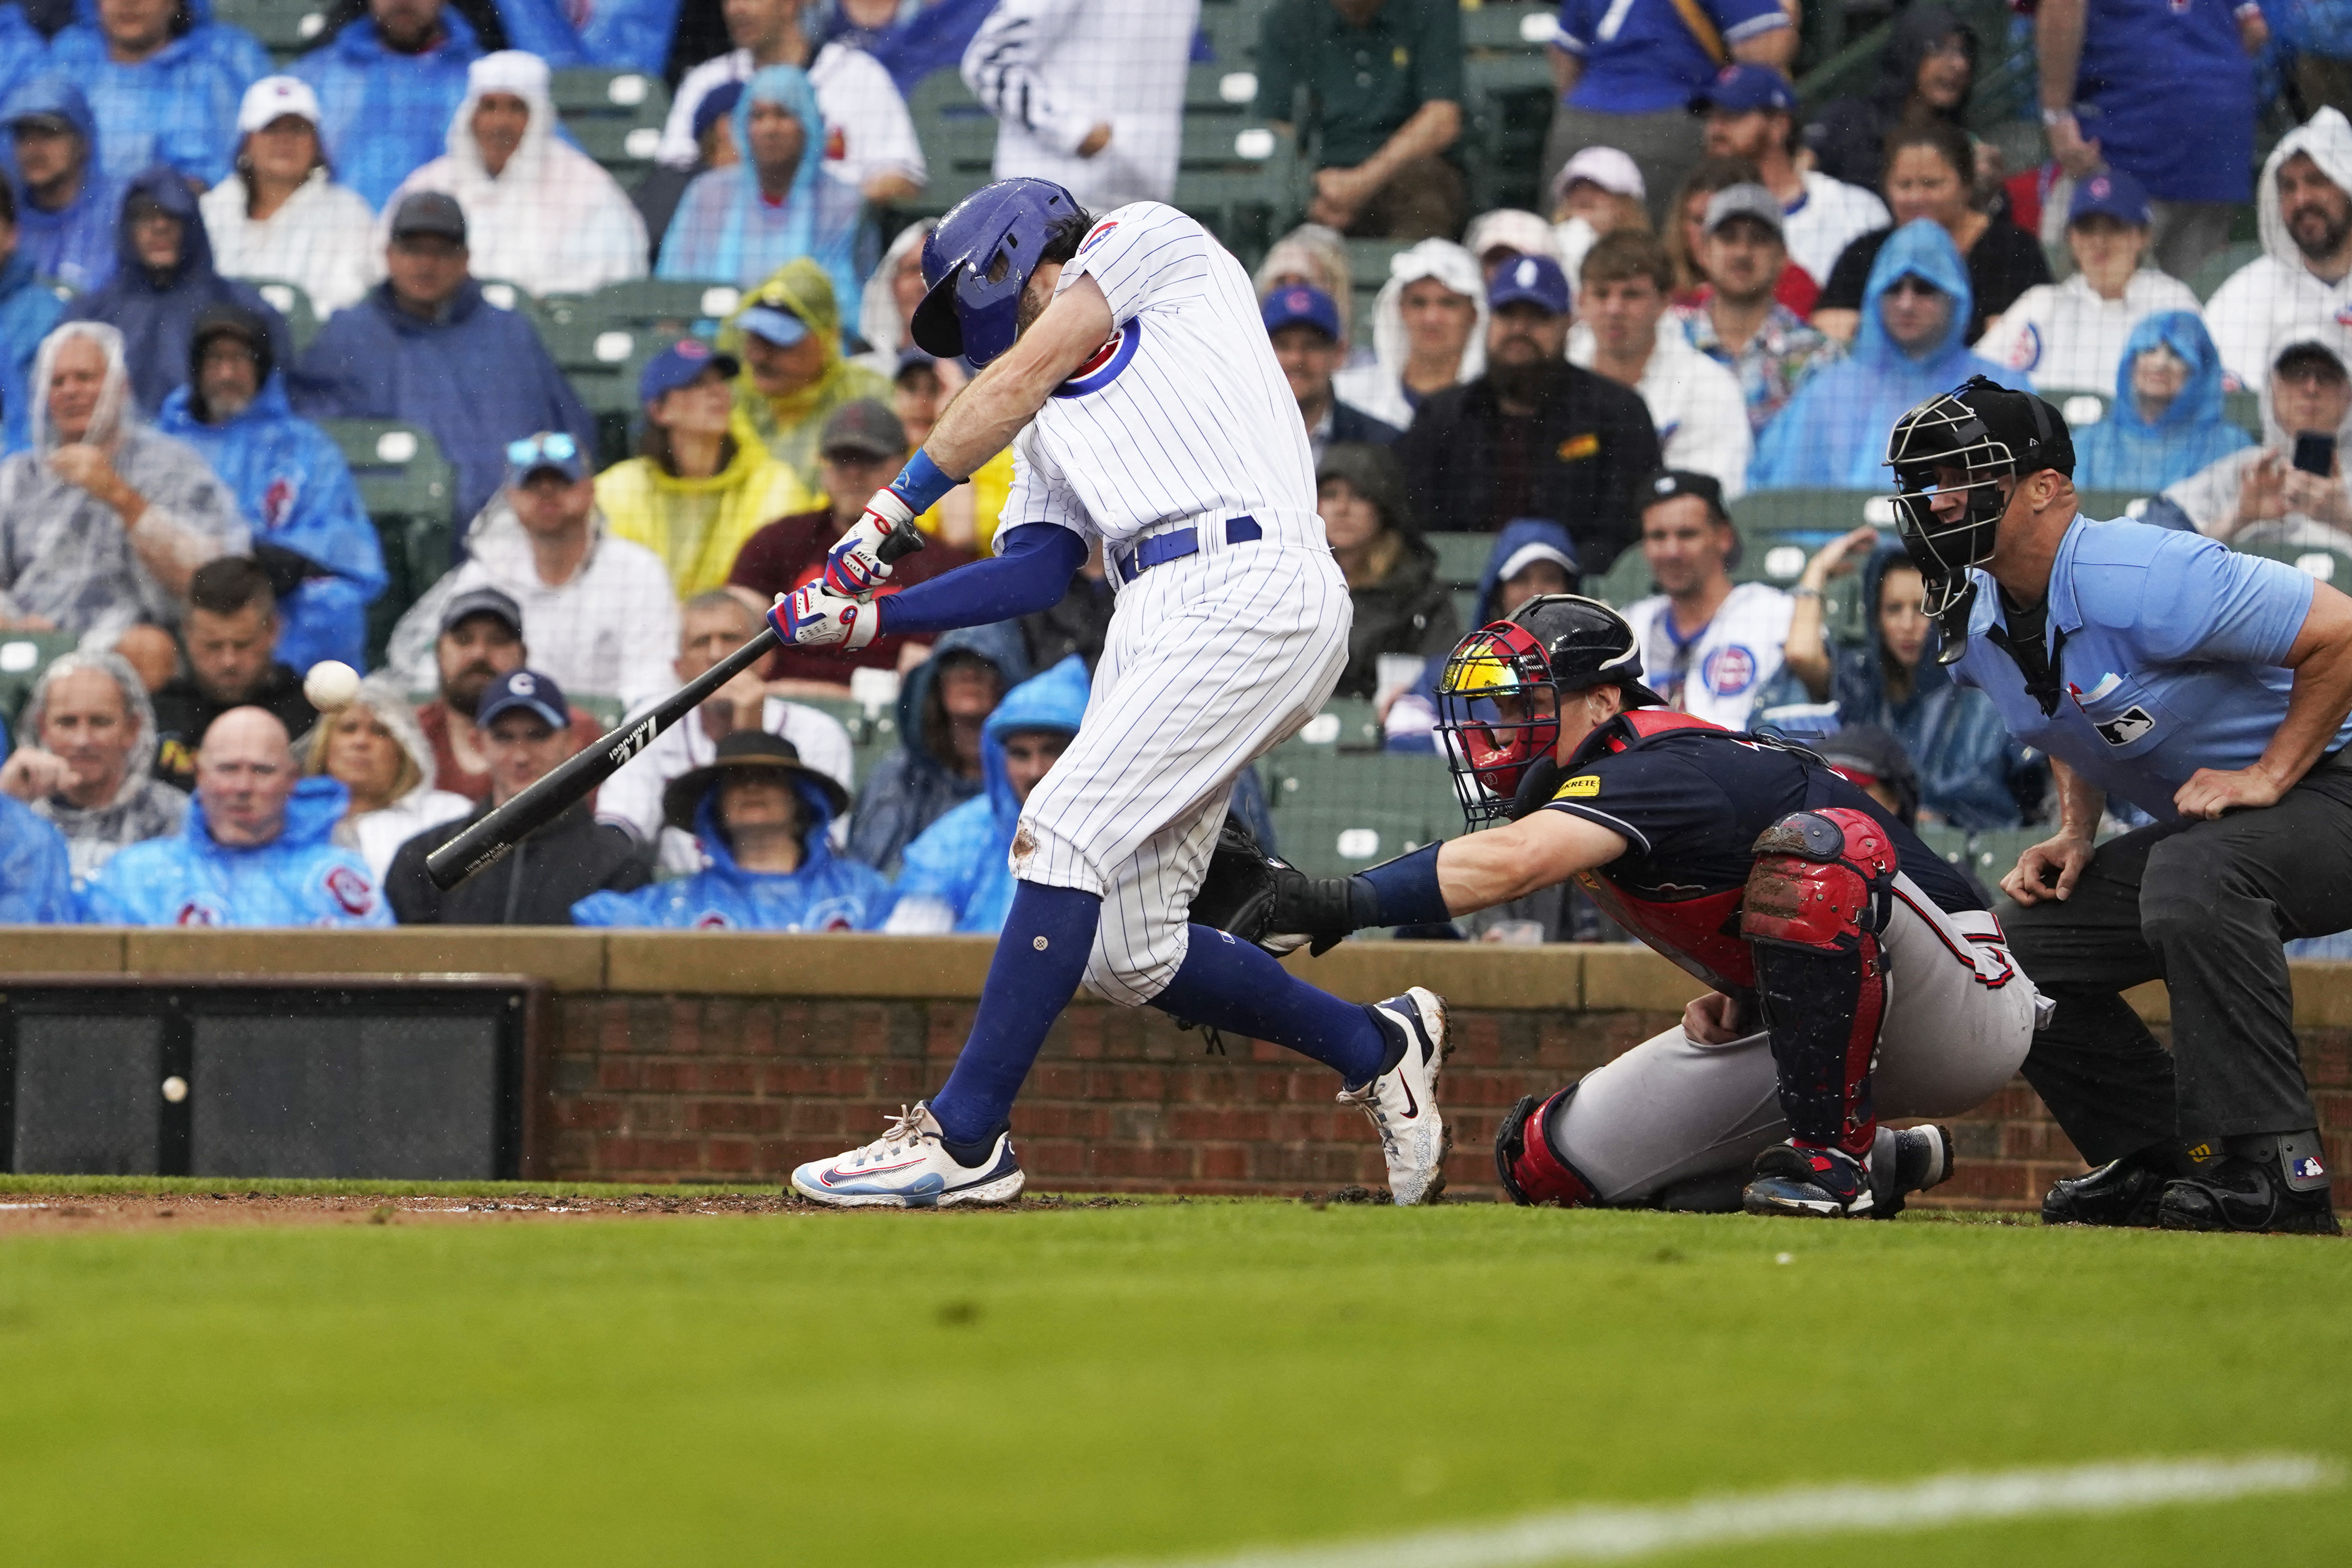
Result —
[[[0, 1554], [1051, 1568], [1785, 1483], [2343, 1462], [2347, 1286], [2336, 1241], [1926, 1215], [1162, 1201], [14, 1234]], [[1642, 1561], [1886, 1547], [2331, 1563], [2352, 1493]]]

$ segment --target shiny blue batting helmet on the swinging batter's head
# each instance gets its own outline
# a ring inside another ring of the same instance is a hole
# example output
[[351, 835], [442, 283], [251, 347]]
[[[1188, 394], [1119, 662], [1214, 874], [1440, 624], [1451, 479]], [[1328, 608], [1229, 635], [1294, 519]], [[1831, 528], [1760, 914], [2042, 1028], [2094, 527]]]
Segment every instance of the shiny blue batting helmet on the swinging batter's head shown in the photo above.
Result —
[[974, 364], [1011, 348], [1021, 289], [1047, 235], [1073, 216], [1084, 219], [1087, 209], [1049, 179], [1000, 179], [957, 202], [922, 242], [929, 292], [915, 306], [915, 343]]

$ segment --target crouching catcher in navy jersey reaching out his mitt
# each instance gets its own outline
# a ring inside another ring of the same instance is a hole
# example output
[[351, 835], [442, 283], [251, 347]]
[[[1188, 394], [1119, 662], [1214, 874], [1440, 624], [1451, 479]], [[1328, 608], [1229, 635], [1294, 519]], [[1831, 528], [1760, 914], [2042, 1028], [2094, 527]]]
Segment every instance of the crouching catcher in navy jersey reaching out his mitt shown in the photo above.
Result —
[[1818, 757], [1642, 684], [1632, 628], [1576, 595], [1461, 642], [1439, 731], [1470, 827], [1357, 877], [1272, 867], [1268, 933], [1317, 952], [1397, 910], [1468, 914], [1566, 877], [1710, 992], [1682, 1025], [1503, 1117], [1519, 1204], [1889, 1215], [1952, 1171], [1940, 1126], [2025, 1060], [2032, 983], [1915, 832]]

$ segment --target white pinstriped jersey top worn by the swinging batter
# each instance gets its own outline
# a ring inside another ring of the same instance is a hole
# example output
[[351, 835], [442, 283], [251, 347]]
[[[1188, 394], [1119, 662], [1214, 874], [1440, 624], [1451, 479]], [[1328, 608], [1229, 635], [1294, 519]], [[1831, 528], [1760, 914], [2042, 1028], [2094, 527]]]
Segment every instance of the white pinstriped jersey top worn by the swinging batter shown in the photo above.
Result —
[[1054, 522], [1120, 548], [1204, 515], [1319, 534], [1305, 423], [1242, 263], [1174, 207], [1134, 202], [1087, 230], [1061, 287], [1082, 275], [1117, 331], [1014, 440], [997, 541]]

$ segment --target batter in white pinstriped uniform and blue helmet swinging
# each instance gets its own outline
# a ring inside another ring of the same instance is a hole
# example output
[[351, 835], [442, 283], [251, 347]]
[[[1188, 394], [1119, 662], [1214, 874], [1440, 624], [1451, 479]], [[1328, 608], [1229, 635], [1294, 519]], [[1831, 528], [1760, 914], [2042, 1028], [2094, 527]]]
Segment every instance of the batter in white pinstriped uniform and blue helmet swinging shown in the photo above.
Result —
[[[863, 646], [1047, 609], [1094, 541], [1120, 597], [1084, 726], [1021, 811], [1021, 886], [946, 1088], [880, 1140], [800, 1166], [793, 1190], [835, 1206], [1016, 1197], [1011, 1103], [1084, 980], [1329, 1063], [1381, 1135], [1395, 1201], [1423, 1201], [1444, 1185], [1444, 1004], [1418, 987], [1341, 1001], [1188, 922], [1235, 778], [1331, 696], [1352, 614], [1249, 277], [1174, 207], [1096, 221], [1037, 179], [964, 200], [922, 273], [915, 341], [983, 369], [823, 578], [776, 602], [776, 632]], [[882, 541], [1007, 442], [997, 557], [866, 597], [889, 574]], [[1390, 924], [1435, 903], [1425, 867], [1378, 872]]]

